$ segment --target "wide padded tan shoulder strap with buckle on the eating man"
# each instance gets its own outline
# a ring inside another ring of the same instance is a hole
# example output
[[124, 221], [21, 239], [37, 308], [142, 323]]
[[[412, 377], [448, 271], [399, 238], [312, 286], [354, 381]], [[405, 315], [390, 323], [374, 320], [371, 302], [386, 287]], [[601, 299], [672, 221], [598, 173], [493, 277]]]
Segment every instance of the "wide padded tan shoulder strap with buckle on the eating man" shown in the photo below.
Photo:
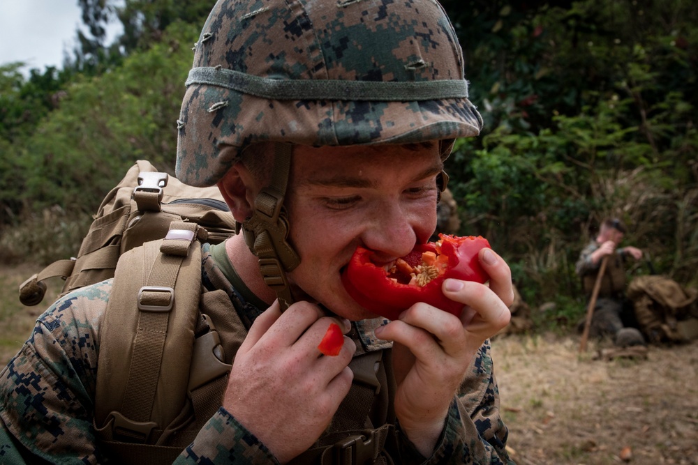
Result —
[[197, 224], [172, 222], [164, 240], [119, 259], [100, 329], [95, 400], [95, 425], [108, 439], [152, 441], [186, 402], [201, 287], [198, 234], [205, 230]]

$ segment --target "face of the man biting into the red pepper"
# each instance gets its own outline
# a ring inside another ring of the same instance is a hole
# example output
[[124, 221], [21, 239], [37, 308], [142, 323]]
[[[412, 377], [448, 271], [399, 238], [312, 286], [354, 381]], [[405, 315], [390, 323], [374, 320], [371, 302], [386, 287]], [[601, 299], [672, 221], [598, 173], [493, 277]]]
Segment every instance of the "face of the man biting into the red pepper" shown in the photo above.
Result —
[[297, 146], [285, 205], [300, 265], [288, 273], [297, 298], [348, 319], [375, 317], [344, 290], [341, 272], [357, 245], [393, 261], [436, 227], [438, 144]]

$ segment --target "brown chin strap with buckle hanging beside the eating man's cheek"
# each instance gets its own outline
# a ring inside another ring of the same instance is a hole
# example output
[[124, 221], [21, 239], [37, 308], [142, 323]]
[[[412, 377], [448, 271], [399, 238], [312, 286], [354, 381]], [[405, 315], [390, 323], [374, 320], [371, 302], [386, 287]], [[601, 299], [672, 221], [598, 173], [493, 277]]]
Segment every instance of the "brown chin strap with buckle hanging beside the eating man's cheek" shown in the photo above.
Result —
[[282, 312], [293, 303], [285, 272], [300, 263], [298, 254], [288, 243], [288, 213], [283, 207], [291, 152], [291, 144], [274, 143], [271, 182], [259, 192], [251, 218], [242, 224], [245, 242], [258, 257], [265, 284], [276, 292]]

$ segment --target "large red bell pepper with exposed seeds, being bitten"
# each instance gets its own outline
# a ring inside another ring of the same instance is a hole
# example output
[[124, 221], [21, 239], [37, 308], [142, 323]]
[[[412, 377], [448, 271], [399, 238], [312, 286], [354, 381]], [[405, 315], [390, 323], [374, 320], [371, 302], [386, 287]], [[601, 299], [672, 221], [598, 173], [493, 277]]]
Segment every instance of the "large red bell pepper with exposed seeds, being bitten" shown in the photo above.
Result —
[[460, 316], [463, 304], [444, 296], [441, 284], [449, 277], [489, 280], [477, 258], [484, 247], [489, 242], [482, 236], [439, 234], [438, 241], [417, 244], [394, 264], [382, 266], [371, 261], [373, 251], [359, 246], [342, 273], [342, 282], [359, 305], [387, 319], [397, 319], [417, 302]]

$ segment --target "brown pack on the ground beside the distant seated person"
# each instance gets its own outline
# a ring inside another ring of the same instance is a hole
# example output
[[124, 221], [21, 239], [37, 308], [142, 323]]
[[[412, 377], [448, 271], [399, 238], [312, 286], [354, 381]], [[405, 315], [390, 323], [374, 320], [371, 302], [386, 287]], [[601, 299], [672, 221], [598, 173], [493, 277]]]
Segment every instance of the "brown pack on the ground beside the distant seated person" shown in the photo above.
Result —
[[683, 342], [681, 321], [698, 317], [698, 291], [683, 289], [668, 277], [635, 277], [626, 295], [632, 300], [639, 330], [651, 343]]

